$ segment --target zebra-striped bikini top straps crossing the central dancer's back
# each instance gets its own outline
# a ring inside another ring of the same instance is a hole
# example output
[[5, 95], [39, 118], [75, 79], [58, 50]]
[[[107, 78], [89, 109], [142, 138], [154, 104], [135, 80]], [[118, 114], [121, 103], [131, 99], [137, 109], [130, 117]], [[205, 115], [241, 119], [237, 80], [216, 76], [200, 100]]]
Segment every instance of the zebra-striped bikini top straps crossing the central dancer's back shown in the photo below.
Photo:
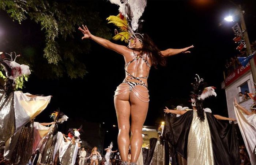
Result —
[[[134, 58], [133, 60], [131, 60], [130, 62], [128, 62], [127, 64], [125, 64], [125, 67], [124, 67], [125, 73], [126, 73], [127, 75], [131, 76], [131, 78], [125, 79], [125, 80], [124, 80], [124, 83], [129, 82], [128, 80], [135, 79], [135, 80], [138, 80], [139, 82], [141, 82], [141, 83], [138, 83], [137, 85], [142, 85], [142, 86], [147, 87], [146, 84], [145, 84], [142, 80], [140, 80], [140, 79], [147, 79], [147, 78], [148, 78], [148, 75], [147, 75], [147, 76], [144, 76], [144, 77], [135, 77], [135, 76], [131, 75], [131, 74], [127, 71], [127, 67], [129, 66], [129, 64], [131, 64], [132, 62], [134, 62], [134, 61], [136, 61], [136, 60], [138, 60], [138, 59], [140, 59], [140, 58], [147, 64], [147, 66], [148, 66], [149, 68], [150, 68], [150, 64], [148, 63], [147, 59], [145, 59], [145, 58], [143, 57], [144, 54], [142, 54], [142, 55], [137, 55], [137, 54], [133, 51], [133, 55], [135, 55], [135, 58]], [[148, 54], [146, 54], [146, 56], [148, 57]]]

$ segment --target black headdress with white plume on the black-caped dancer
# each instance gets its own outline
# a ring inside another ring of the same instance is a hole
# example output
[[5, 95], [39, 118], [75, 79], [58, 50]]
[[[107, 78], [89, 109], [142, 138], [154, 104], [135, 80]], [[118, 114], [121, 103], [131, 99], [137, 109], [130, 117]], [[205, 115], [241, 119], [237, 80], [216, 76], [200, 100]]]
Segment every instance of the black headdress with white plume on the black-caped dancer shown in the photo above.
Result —
[[193, 91], [191, 92], [191, 102], [192, 106], [196, 106], [197, 100], [204, 100], [210, 96], [217, 96], [215, 93], [215, 87], [206, 87], [207, 83], [204, 82], [204, 79], [200, 78], [199, 75], [196, 74], [196, 81], [192, 83]]

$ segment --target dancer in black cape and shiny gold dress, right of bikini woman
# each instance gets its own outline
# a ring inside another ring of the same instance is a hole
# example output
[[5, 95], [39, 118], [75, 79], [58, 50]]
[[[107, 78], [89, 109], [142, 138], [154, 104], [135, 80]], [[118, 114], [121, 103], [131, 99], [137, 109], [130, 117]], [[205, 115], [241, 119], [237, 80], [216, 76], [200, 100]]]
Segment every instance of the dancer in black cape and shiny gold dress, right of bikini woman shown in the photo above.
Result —
[[[206, 83], [198, 75], [195, 79], [191, 95], [193, 110], [165, 109], [165, 112], [181, 116], [166, 117], [164, 137], [189, 165], [238, 164], [238, 141], [234, 123], [219, 121], [203, 109], [203, 100], [217, 94], [214, 87], [206, 87]], [[172, 165], [176, 164], [176, 157], [173, 157]]]

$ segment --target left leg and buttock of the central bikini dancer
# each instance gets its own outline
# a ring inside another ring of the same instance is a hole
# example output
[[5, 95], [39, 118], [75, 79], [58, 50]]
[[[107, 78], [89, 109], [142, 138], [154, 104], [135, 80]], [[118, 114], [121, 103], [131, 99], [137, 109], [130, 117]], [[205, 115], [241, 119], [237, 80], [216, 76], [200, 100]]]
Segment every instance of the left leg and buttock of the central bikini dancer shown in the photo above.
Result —
[[[117, 89], [120, 90], [122, 89], [122, 87], [118, 87]], [[116, 94], [121, 93], [125, 90], [126, 89], [120, 90], [116, 92]], [[131, 114], [130, 113], [131, 105], [129, 103], [129, 95], [130, 95], [130, 92], [126, 91], [114, 97], [114, 104], [115, 104], [118, 129], [119, 129], [117, 143], [118, 143], [118, 149], [119, 149], [122, 161], [128, 161], [128, 151], [129, 151], [129, 145], [130, 145], [129, 118]]]

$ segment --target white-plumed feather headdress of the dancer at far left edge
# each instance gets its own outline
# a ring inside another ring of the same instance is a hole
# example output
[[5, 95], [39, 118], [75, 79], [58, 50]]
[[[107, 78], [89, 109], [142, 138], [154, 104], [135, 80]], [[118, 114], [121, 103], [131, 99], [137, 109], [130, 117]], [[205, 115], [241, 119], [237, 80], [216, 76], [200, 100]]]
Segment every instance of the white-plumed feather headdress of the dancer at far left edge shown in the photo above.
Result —
[[15, 80], [19, 76], [30, 74], [29, 66], [20, 65], [15, 62], [16, 58], [19, 56], [20, 55], [16, 55], [16, 52], [11, 52], [10, 54], [1, 52], [0, 54], [0, 64], [4, 67], [8, 79]]

